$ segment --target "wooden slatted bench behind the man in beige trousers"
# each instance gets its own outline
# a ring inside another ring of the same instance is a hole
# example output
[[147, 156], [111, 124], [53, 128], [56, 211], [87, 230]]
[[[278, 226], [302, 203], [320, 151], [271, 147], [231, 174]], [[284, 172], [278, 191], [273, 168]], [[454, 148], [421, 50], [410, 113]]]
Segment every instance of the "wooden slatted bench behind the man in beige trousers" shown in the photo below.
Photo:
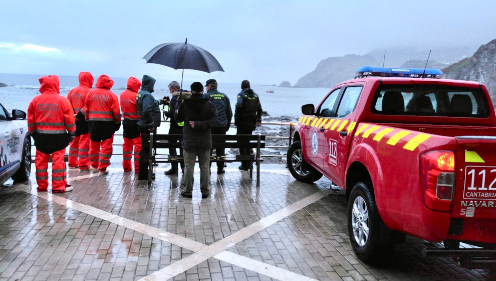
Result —
[[[145, 141], [150, 143], [150, 152], [155, 152], [149, 159], [148, 168], [148, 189], [151, 188], [153, 165], [155, 163], [173, 163], [184, 161], [180, 155], [160, 154], [159, 149], [178, 149], [182, 146], [181, 134], [144, 134]], [[241, 142], [241, 143], [239, 143]], [[225, 157], [210, 156], [211, 162], [242, 162], [250, 161], [255, 162], [257, 167], [257, 187], [260, 187], [260, 162], [264, 160], [260, 158], [260, 149], [265, 148], [265, 135], [262, 134], [212, 134], [212, 147], [224, 147], [225, 149], [231, 148], [246, 148], [249, 151], [257, 150], [256, 155], [226, 155]], [[168, 151], [167, 151], [168, 152]], [[198, 162], [198, 160], [196, 160]], [[253, 166], [249, 165], [250, 180], [253, 180]]]

